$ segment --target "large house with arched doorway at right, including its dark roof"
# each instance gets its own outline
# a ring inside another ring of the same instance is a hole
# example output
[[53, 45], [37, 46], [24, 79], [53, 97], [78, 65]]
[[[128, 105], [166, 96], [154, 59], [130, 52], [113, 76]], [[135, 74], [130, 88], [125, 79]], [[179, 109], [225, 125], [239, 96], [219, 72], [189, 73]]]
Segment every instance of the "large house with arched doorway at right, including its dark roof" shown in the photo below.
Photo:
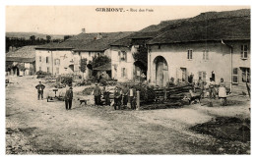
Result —
[[148, 42], [148, 81], [164, 87], [193, 75], [227, 86], [250, 82], [250, 14], [185, 22]]

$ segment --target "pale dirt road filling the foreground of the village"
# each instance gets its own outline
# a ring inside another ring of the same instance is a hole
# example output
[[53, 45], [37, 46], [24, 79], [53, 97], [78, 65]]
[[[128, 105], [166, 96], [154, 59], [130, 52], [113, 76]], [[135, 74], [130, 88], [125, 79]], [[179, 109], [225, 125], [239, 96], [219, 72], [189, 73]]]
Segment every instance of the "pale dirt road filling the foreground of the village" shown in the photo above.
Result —
[[206, 145], [215, 137], [189, 128], [216, 116], [250, 116], [249, 102], [228, 107], [115, 111], [108, 106], [80, 106], [75, 100], [73, 109], [66, 111], [64, 102], [37, 100], [34, 86], [38, 80], [22, 77], [12, 81], [6, 87], [7, 154], [213, 154], [213, 148]]

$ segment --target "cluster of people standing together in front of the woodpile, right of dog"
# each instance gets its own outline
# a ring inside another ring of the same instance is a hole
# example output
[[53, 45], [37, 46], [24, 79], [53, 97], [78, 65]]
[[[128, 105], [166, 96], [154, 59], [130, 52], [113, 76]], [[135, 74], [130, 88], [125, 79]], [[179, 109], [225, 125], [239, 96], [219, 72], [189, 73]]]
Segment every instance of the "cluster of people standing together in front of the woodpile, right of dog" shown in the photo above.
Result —
[[[94, 88], [93, 94], [95, 96], [96, 106], [101, 105], [101, 95], [103, 95], [105, 105], [111, 105], [109, 98], [110, 90], [108, 84], [106, 86], [103, 86], [101, 90], [98, 84], [96, 83], [96, 87]], [[125, 84], [123, 87], [115, 86], [113, 94], [113, 106], [115, 110], [120, 110], [121, 106], [126, 108], [128, 102], [131, 104], [131, 108], [133, 110], [136, 109], [136, 89], [133, 86], [131, 86], [130, 88], [128, 87], [127, 84]]]

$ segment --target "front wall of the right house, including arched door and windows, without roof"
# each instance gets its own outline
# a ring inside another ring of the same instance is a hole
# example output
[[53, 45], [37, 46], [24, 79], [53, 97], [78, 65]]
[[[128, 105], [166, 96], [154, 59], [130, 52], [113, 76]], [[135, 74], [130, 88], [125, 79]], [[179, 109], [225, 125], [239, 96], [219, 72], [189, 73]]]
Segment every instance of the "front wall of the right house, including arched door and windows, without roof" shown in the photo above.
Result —
[[148, 81], [155, 85], [187, 82], [191, 74], [195, 81], [209, 82], [215, 74], [216, 82], [241, 84], [250, 80], [250, 40], [152, 45], [148, 62]]

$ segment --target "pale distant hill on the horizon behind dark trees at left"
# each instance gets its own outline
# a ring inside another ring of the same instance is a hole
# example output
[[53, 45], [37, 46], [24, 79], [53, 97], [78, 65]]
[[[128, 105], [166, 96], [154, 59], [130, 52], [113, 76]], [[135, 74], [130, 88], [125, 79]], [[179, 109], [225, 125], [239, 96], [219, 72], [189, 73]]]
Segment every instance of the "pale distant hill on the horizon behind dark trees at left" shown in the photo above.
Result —
[[46, 35], [50, 35], [51, 39], [63, 39], [64, 35], [58, 35], [58, 34], [43, 34], [38, 32], [6, 32], [7, 37], [25, 37], [26, 39], [30, 39], [30, 37], [34, 35], [35, 38], [43, 38], [46, 39]]

